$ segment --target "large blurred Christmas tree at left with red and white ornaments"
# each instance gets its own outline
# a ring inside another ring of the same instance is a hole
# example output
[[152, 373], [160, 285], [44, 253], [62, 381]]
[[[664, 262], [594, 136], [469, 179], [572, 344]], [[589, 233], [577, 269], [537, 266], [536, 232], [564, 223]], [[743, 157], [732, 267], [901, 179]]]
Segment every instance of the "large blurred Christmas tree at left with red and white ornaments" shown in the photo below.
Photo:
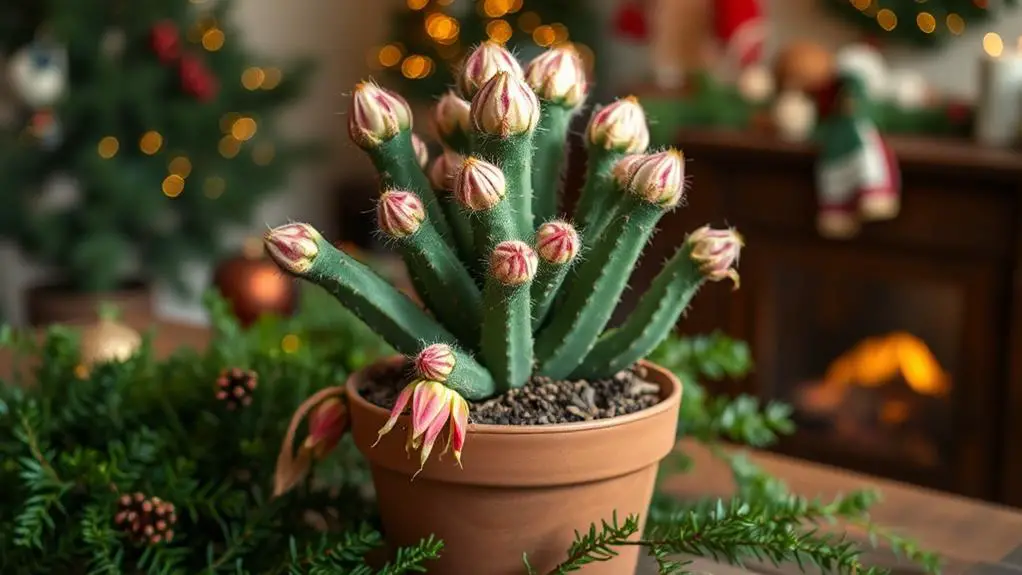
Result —
[[75, 289], [105, 291], [128, 274], [174, 281], [248, 223], [308, 151], [278, 139], [273, 117], [309, 66], [252, 59], [229, 4], [0, 0], [13, 102], [0, 118], [0, 240]]

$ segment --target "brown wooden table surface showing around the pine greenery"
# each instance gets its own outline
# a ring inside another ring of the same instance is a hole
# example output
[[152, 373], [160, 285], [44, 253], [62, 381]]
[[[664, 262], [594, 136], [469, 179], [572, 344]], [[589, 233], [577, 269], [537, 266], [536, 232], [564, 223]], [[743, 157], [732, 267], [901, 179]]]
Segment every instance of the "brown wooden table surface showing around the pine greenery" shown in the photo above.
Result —
[[[153, 345], [160, 355], [183, 345], [202, 347], [210, 340], [208, 331], [195, 326], [160, 323], [156, 327], [156, 333]], [[0, 375], [5, 374], [8, 369], [7, 354], [0, 351]], [[730, 495], [734, 484], [728, 467], [691, 440], [684, 440], [682, 446], [695, 460], [695, 469], [692, 473], [668, 481], [666, 488], [686, 498]], [[793, 492], [805, 496], [827, 499], [864, 487], [879, 489], [883, 500], [873, 513], [875, 522], [938, 552], [945, 560], [944, 573], [1022, 575], [1022, 512], [1019, 510], [775, 453], [754, 450], [749, 453], [753, 463], [783, 479]], [[854, 527], [842, 526], [842, 529], [853, 537], [865, 536], [861, 529]], [[896, 573], [917, 572], [882, 550], [871, 555], [870, 560], [892, 567]], [[697, 560], [692, 568], [716, 575], [797, 573], [797, 570], [773, 567], [754, 567], [753, 571], [748, 571], [702, 560]], [[640, 573], [646, 575], [656, 572], [655, 569], [650, 569], [650, 565], [644, 564]]]

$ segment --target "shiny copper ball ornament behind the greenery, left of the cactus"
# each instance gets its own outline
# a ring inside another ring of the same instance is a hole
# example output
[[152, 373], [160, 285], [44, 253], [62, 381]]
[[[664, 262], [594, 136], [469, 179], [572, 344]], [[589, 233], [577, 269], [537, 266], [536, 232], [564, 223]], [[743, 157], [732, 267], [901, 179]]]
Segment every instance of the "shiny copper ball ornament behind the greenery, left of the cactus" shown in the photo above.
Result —
[[295, 281], [266, 255], [262, 241], [249, 241], [241, 253], [221, 261], [213, 284], [242, 326], [264, 315], [290, 316], [297, 307]]

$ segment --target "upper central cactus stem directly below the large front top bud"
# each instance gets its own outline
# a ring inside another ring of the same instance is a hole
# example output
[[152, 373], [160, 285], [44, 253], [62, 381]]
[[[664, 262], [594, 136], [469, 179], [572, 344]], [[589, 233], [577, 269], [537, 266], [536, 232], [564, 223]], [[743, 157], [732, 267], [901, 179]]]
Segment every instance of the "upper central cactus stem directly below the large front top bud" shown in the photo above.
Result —
[[[517, 226], [517, 238], [532, 235], [532, 133], [508, 137], [472, 133], [472, 153], [500, 166], [507, 180], [507, 198]], [[489, 252], [487, 252], [489, 253]]]

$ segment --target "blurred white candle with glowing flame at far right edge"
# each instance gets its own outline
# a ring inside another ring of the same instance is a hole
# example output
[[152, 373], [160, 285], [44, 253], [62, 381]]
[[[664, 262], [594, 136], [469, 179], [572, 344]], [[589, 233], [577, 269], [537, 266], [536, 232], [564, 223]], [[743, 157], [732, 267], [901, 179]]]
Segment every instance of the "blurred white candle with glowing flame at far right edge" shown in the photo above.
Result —
[[1022, 49], [1006, 49], [1001, 37], [991, 32], [983, 37], [983, 50], [976, 140], [990, 146], [1011, 146], [1022, 117]]

